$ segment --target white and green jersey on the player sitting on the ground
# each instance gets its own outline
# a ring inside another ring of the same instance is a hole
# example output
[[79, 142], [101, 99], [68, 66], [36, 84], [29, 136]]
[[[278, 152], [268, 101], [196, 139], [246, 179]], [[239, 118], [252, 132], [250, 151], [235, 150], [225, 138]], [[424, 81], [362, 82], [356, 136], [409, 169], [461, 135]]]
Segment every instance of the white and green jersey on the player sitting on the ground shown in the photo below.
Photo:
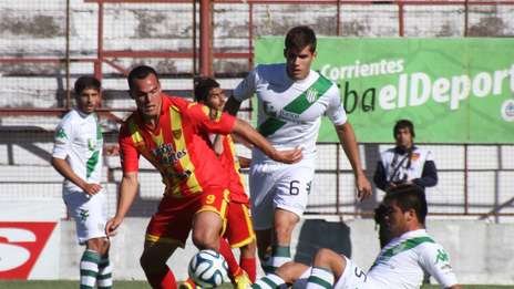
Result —
[[426, 230], [419, 229], [392, 239], [380, 251], [368, 271], [376, 288], [421, 288], [423, 270], [434, 277], [441, 288], [458, 283], [444, 248]]

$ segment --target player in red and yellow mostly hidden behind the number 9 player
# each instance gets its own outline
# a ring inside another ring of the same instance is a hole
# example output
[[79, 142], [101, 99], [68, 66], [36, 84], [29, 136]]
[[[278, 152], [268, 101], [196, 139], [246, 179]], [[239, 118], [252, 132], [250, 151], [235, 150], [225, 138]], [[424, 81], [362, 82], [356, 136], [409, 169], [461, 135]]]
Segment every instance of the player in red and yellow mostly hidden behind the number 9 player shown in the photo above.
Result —
[[[195, 85], [195, 100], [216, 111], [223, 111], [225, 93], [219, 83], [210, 78], [201, 78]], [[240, 248], [239, 265], [227, 260], [236, 287], [245, 288], [248, 277], [256, 278], [256, 236], [249, 213], [249, 199], [245, 193], [245, 185], [239, 173], [239, 158], [236, 156], [234, 141], [230, 135], [212, 135], [213, 149], [219, 157], [223, 167], [229, 174], [230, 203], [227, 211], [227, 228], [224, 237], [233, 248]], [[240, 266], [240, 267], [239, 267]], [[241, 270], [243, 268], [243, 270]], [[246, 273], [248, 277], [246, 277]], [[246, 278], [246, 279], [245, 279]]]

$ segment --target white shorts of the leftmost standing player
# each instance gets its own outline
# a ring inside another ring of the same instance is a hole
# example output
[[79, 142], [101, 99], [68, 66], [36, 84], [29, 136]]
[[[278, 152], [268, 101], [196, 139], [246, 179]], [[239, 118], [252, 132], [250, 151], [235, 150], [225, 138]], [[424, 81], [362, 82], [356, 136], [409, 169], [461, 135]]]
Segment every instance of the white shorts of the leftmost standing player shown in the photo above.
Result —
[[90, 196], [82, 190], [63, 189], [62, 198], [70, 216], [75, 220], [79, 244], [106, 237], [107, 198], [104, 190]]

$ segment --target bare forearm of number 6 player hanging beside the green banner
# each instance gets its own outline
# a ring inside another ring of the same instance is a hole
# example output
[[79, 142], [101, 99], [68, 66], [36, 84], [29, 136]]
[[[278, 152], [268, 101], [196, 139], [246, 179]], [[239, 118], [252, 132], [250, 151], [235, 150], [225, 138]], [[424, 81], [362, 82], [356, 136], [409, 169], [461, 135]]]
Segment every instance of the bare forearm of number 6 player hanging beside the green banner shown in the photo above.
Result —
[[358, 190], [358, 197], [364, 199], [371, 196], [371, 184], [362, 171], [360, 158], [359, 158], [359, 147], [357, 146], [356, 133], [353, 127], [349, 122], [346, 122], [341, 125], [336, 125], [336, 133], [339, 137], [339, 142], [345, 149], [345, 154], [350, 161], [353, 174], [356, 176], [356, 184]]

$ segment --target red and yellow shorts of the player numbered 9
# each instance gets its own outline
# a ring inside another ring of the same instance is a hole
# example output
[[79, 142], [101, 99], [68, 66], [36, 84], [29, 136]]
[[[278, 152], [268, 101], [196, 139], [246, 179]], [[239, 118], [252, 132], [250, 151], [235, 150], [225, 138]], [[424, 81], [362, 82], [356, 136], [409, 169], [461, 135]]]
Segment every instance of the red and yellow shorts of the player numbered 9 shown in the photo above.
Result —
[[145, 239], [184, 247], [195, 214], [214, 211], [222, 217], [225, 227], [228, 203], [229, 192], [220, 188], [205, 189], [185, 198], [164, 195], [146, 228]]

